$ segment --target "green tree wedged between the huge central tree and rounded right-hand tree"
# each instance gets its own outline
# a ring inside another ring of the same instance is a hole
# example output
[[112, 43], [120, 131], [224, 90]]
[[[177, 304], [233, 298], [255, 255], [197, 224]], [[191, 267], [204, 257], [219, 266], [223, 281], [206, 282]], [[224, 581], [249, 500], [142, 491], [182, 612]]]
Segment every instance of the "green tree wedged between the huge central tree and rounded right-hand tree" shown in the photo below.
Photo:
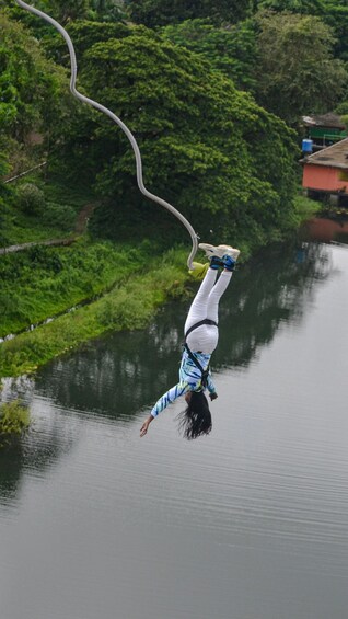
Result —
[[176, 45], [206, 57], [213, 67], [231, 78], [236, 88], [254, 90], [256, 34], [253, 20], [232, 26], [214, 26], [206, 20], [187, 20], [165, 26], [161, 33]]

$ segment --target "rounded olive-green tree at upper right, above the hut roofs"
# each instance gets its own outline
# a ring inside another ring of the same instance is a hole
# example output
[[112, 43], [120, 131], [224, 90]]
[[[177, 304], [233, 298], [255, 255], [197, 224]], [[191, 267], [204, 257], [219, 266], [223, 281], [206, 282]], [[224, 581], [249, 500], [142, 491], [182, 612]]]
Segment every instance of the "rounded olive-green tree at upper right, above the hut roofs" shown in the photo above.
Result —
[[318, 18], [288, 12], [260, 12], [257, 23], [258, 102], [290, 124], [334, 107], [348, 74], [333, 58], [332, 30]]

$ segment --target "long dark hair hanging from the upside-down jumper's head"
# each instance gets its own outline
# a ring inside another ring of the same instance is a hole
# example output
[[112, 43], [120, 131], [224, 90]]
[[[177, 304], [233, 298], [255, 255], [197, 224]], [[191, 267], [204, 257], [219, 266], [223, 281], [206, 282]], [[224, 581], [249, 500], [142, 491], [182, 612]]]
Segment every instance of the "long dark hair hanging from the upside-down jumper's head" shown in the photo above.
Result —
[[187, 408], [177, 415], [177, 419], [178, 429], [187, 440], [211, 432], [211, 413], [202, 391], [192, 391]]

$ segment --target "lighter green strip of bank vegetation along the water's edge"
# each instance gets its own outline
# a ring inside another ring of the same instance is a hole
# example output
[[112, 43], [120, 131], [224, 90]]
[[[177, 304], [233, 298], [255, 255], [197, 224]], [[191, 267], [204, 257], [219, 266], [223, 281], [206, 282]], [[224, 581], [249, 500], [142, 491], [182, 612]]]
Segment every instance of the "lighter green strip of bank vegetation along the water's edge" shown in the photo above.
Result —
[[148, 272], [134, 271], [98, 300], [35, 331], [0, 344], [0, 378], [37, 369], [54, 357], [106, 332], [142, 329], [156, 309], [182, 297], [188, 280], [187, 252], [171, 250]]

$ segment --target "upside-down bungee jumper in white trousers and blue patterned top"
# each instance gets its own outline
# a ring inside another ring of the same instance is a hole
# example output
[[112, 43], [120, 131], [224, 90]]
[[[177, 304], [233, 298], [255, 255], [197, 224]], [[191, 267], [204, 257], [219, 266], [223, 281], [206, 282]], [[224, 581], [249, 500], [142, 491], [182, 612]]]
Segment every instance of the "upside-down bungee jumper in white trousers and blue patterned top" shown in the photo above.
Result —
[[[187, 404], [179, 414], [179, 429], [185, 438], [197, 438], [211, 431], [211, 413], [205, 391], [208, 389], [211, 401], [218, 398], [218, 393], [209, 363], [219, 339], [219, 301], [230, 284], [240, 251], [230, 245], [209, 243], [199, 243], [199, 248], [206, 252], [209, 263], [185, 322], [179, 381], [154, 404], [140, 428], [140, 436], [144, 436], [159, 413], [181, 396], [185, 396]], [[222, 272], [217, 278], [220, 267]]]

